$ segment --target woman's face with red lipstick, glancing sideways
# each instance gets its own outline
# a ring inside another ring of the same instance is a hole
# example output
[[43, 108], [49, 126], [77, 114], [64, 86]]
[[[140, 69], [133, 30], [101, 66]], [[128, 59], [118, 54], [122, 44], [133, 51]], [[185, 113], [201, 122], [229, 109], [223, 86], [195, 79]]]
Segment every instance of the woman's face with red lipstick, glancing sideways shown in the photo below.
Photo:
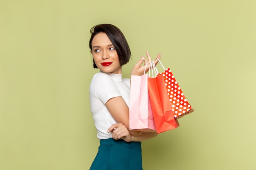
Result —
[[96, 66], [103, 73], [122, 73], [117, 51], [106, 33], [98, 33], [94, 36], [91, 53]]

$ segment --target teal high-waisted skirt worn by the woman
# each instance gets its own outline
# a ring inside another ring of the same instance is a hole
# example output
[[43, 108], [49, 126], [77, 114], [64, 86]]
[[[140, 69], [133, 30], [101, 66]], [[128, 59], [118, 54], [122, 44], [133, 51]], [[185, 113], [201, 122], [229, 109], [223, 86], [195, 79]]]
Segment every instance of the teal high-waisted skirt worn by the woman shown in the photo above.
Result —
[[141, 142], [100, 140], [90, 170], [142, 170]]

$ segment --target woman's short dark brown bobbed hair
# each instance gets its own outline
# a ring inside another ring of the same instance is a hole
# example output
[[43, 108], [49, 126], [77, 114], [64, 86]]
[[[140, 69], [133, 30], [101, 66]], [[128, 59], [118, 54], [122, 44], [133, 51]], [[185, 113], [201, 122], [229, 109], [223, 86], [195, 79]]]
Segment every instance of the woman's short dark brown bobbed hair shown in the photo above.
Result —
[[[124, 34], [121, 32], [119, 28], [112, 24], [99, 24], [95, 25], [91, 28], [91, 38], [89, 42], [89, 47], [92, 51], [92, 40], [95, 35], [98, 33], [106, 33], [109, 40], [112, 42], [113, 46], [117, 51], [117, 55], [119, 58], [120, 65], [123, 66], [124, 64], [128, 63], [131, 57], [130, 47]], [[93, 61], [93, 68], [98, 68]]]

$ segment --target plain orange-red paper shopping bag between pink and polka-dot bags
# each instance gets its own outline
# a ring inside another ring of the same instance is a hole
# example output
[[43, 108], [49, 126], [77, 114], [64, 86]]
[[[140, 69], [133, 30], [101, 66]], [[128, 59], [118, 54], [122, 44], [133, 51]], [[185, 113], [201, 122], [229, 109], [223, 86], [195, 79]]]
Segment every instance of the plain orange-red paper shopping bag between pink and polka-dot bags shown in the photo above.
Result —
[[[150, 65], [150, 67], [151, 66], [152, 65]], [[150, 77], [149, 75], [148, 94], [157, 133], [177, 128], [179, 126], [179, 122], [174, 118], [162, 75], [156, 77]]]

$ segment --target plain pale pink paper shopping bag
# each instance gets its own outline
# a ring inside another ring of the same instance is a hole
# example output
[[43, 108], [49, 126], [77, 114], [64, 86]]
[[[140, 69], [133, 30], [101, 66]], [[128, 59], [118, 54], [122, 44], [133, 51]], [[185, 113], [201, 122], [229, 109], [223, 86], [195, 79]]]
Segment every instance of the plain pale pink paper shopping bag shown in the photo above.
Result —
[[156, 131], [148, 96], [148, 75], [132, 75], [129, 106], [130, 130]]

